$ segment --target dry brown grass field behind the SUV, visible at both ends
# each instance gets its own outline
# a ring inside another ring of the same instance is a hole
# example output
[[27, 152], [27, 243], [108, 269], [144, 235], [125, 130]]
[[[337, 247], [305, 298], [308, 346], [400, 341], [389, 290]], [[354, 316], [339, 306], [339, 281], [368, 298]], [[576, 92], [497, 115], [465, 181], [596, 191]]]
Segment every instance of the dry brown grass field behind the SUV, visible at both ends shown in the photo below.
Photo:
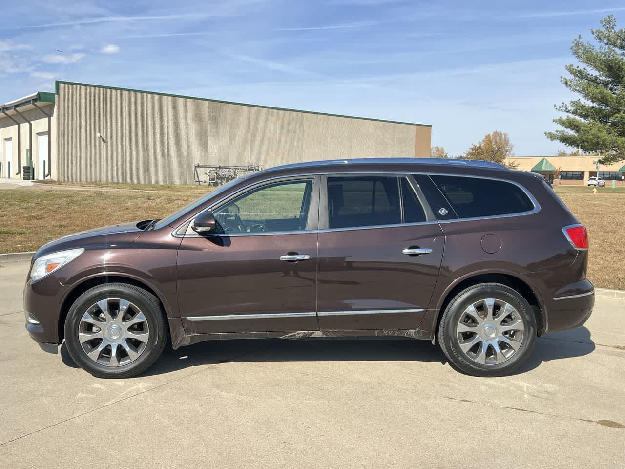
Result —
[[[34, 251], [47, 241], [84, 229], [162, 218], [199, 198], [207, 186], [74, 184], [0, 191], [0, 253]], [[588, 277], [596, 286], [625, 290], [625, 187], [555, 186], [590, 237]]]

